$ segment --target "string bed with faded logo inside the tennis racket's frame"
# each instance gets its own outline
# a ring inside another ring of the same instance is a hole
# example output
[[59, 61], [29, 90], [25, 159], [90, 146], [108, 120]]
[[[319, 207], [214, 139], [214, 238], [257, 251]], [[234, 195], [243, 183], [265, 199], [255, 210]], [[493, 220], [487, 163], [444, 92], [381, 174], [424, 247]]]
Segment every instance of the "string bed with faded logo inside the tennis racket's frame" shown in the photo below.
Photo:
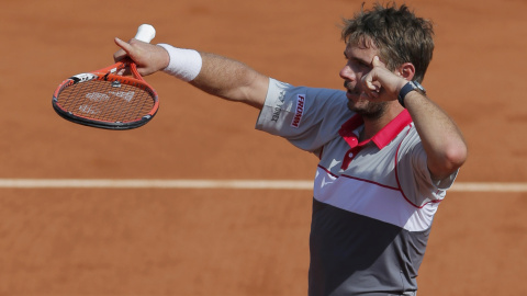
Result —
[[104, 80], [72, 84], [57, 99], [65, 111], [76, 116], [104, 122], [141, 119], [155, 104], [150, 92], [139, 86]]

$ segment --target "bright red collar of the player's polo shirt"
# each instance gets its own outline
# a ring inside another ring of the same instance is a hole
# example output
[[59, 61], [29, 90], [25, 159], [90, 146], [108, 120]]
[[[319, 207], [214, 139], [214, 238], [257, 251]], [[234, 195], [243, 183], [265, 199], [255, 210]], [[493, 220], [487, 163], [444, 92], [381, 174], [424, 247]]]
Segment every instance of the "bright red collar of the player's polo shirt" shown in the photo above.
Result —
[[[384, 148], [390, 141], [392, 141], [404, 127], [412, 123], [412, 117], [407, 110], [403, 110], [395, 118], [388, 123], [379, 133], [377, 133], [371, 139], [365, 140], [359, 145], [365, 145], [369, 141], [373, 141], [379, 149]], [[338, 134], [351, 146], [351, 143], [357, 145], [357, 135], [354, 133], [365, 122], [359, 114], [354, 115], [346, 123], [343, 124]], [[351, 140], [355, 138], [356, 140]], [[355, 146], [354, 145], [354, 146]]]

